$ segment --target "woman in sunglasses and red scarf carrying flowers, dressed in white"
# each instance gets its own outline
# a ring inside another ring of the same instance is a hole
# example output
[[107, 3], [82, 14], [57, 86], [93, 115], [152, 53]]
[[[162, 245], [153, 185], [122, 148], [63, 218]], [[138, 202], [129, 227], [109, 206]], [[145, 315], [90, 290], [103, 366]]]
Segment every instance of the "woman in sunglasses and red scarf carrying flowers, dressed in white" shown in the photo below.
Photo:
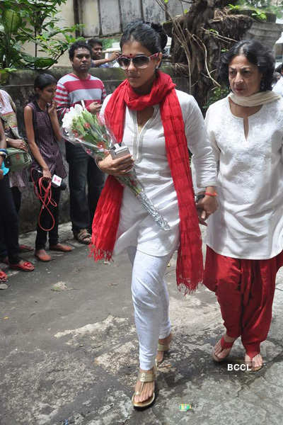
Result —
[[[164, 45], [166, 45], [166, 36], [165, 40], [163, 38]], [[207, 188], [208, 194], [200, 205], [200, 209], [203, 208], [204, 215], [207, 216], [216, 209], [214, 198], [216, 166], [202, 115], [194, 98], [181, 91], [175, 91], [171, 78], [157, 71], [162, 57], [161, 36], [148, 24], [132, 23], [125, 28], [121, 48], [122, 56], [118, 62], [125, 69], [127, 81], [105, 99], [101, 116], [106, 124], [109, 125], [110, 122], [110, 128], [114, 133], [116, 131], [120, 135], [119, 131], [122, 128], [122, 137], [118, 141], [129, 148], [130, 154], [115, 160], [109, 156], [98, 162], [98, 166], [102, 171], [117, 176], [127, 174], [134, 165], [146, 195], [170, 225], [170, 230], [167, 231], [158, 227], [129, 188], [124, 189], [114, 254], [127, 249], [133, 266], [132, 297], [139, 336], [140, 373], [132, 402], [134, 407], [145, 407], [154, 401], [156, 352], [158, 351], [159, 363], [163, 359], [163, 351], [168, 349], [171, 341], [168, 290], [164, 274], [168, 261], [180, 244], [184, 212], [180, 212], [182, 210], [179, 202], [181, 195], [183, 199], [187, 199], [187, 206], [181, 206], [185, 210], [191, 208], [197, 222], [195, 205], [193, 200], [190, 203], [189, 188], [186, 186], [190, 176], [189, 173], [186, 177], [182, 174], [183, 169], [188, 170], [188, 161], [185, 161], [185, 157], [178, 157], [178, 146], [177, 150], [174, 150], [176, 145], [175, 147], [171, 145], [172, 140], [178, 144], [178, 138], [175, 134], [172, 135], [174, 123], [172, 127], [171, 120], [182, 121], [181, 127], [177, 125], [180, 130], [178, 137], [180, 137], [180, 143], [183, 140], [182, 137], [185, 139], [185, 153], [187, 154], [187, 146], [193, 152], [198, 183]], [[161, 92], [166, 93], [164, 98], [160, 95]], [[153, 93], [156, 94], [156, 98]], [[121, 96], [125, 96], [125, 100]], [[170, 100], [166, 103], [167, 96], [169, 99], [173, 98], [173, 103]], [[162, 102], [158, 100], [161, 98]], [[133, 104], [135, 106], [131, 107]], [[175, 116], [168, 113], [172, 105], [175, 105], [175, 109], [170, 111], [173, 115], [175, 113]], [[166, 109], [167, 107], [169, 109]], [[181, 116], [178, 115], [179, 110]], [[165, 117], [164, 111], [167, 111]], [[113, 115], [115, 115], [114, 118]], [[169, 136], [168, 122], [169, 130], [171, 130]], [[117, 128], [120, 130], [118, 131]], [[174, 154], [172, 154], [173, 150]], [[174, 163], [176, 158], [177, 165]], [[175, 177], [178, 168], [180, 168], [180, 174]], [[184, 182], [180, 181], [182, 175]], [[115, 181], [110, 180], [110, 182], [109, 184], [106, 182], [101, 197], [108, 198], [111, 203], [112, 194], [108, 196], [108, 191], [110, 193]], [[185, 188], [188, 188], [188, 192], [180, 194], [180, 186], [183, 184]], [[190, 190], [192, 191], [192, 188]], [[116, 197], [116, 195], [117, 193], [113, 191], [113, 196]], [[96, 234], [100, 232], [100, 228], [104, 226], [103, 229], [106, 229], [106, 226], [112, 225], [107, 220], [101, 220], [100, 215], [105, 212], [105, 209], [107, 209], [105, 204], [100, 200], [93, 220], [94, 246]], [[101, 225], [98, 225], [98, 222], [101, 222]], [[196, 234], [197, 231], [199, 232], [198, 225], [195, 229]], [[115, 232], [114, 227], [112, 232]], [[103, 231], [101, 234], [103, 238]], [[190, 238], [192, 235], [187, 236]], [[198, 239], [200, 241], [200, 237]], [[99, 251], [98, 246], [96, 249]]]

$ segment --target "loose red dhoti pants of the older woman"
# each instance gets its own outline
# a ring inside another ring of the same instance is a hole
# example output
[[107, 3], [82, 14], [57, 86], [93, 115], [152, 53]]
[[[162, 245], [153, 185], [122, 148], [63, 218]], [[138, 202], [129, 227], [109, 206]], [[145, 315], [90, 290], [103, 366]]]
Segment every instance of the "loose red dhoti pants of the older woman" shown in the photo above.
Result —
[[259, 353], [267, 338], [282, 265], [283, 251], [272, 259], [247, 260], [216, 254], [207, 246], [204, 285], [216, 294], [227, 335], [241, 335], [247, 353]]

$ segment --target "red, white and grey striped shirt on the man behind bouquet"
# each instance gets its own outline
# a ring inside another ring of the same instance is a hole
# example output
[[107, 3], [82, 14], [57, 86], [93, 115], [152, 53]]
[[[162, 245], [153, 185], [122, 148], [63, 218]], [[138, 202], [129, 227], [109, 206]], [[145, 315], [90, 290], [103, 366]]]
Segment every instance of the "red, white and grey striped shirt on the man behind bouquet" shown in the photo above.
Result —
[[57, 82], [55, 101], [60, 119], [76, 103], [84, 102], [86, 109], [93, 101], [103, 103], [106, 96], [103, 82], [88, 74], [86, 79], [79, 79], [75, 74], [67, 74]]

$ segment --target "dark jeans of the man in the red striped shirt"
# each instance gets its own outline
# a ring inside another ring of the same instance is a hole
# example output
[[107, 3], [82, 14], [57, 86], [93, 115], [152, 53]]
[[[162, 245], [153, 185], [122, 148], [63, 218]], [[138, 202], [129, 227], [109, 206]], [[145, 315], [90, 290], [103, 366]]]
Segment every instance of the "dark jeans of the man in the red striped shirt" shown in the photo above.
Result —
[[105, 178], [94, 159], [80, 146], [67, 142], [66, 159], [69, 163], [70, 217], [76, 234], [81, 229], [91, 229]]

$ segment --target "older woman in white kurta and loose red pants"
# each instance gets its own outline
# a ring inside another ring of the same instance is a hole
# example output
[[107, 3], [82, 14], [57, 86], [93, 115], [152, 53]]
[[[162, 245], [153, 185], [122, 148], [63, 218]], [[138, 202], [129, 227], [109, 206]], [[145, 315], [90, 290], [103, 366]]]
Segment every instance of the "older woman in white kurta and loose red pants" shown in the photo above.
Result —
[[254, 370], [262, 367], [260, 343], [283, 260], [283, 100], [271, 91], [273, 68], [259, 42], [238, 42], [220, 68], [232, 93], [206, 116], [219, 209], [209, 218], [204, 284], [216, 293], [226, 327], [213, 357], [224, 360], [241, 335]]

